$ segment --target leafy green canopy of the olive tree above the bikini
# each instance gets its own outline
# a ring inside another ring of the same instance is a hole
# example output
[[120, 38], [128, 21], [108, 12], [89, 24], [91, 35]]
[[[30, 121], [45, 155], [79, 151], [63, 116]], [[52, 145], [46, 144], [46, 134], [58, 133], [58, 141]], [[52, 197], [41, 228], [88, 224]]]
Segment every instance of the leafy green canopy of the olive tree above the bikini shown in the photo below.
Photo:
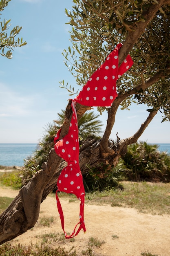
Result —
[[[123, 43], [128, 34], [135, 31], [138, 22], [146, 22], [148, 8], [158, 4], [157, 0], [73, 0], [73, 3], [73, 11], [66, 10], [72, 26], [72, 47], [64, 50], [63, 55], [68, 70], [80, 86], [88, 81], [117, 43]], [[117, 81], [119, 95], [125, 96], [122, 109], [128, 109], [132, 102], [146, 104], [148, 111], [160, 110], [163, 121], [170, 120], [169, 24], [170, 6], [164, 5], [130, 52], [134, 65]], [[145, 88], [146, 81], [155, 77], [160, 79]], [[61, 87], [70, 95], [78, 93], [64, 81]], [[138, 89], [131, 93], [135, 88]]]

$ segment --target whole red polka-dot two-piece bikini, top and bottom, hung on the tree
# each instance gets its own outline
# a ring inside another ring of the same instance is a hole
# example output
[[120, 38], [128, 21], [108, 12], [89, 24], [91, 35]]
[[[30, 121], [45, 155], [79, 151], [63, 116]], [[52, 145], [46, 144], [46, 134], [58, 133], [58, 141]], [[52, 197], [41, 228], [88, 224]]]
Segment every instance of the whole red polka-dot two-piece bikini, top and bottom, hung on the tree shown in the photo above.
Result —
[[[86, 85], [84, 85], [80, 91], [79, 95], [72, 100], [71, 108], [73, 110], [73, 115], [68, 134], [64, 136], [63, 139], [58, 140], [61, 132], [60, 129], [54, 138], [55, 152], [67, 162], [67, 166], [61, 171], [57, 180], [56, 191], [57, 208], [61, 219], [62, 229], [64, 231], [65, 238], [67, 239], [77, 236], [81, 229], [86, 232], [84, 224], [85, 191], [82, 173], [79, 167], [79, 139], [75, 103], [78, 102], [85, 106], [101, 107], [112, 105], [114, 99], [117, 97], [116, 80], [119, 79], [119, 77], [133, 64], [130, 55], [128, 55], [119, 67], [118, 53], [120, 47], [121, 43], [117, 45], [114, 51], [108, 55], [106, 61], [92, 74]], [[67, 235], [64, 230], [64, 214], [57, 195], [57, 192], [59, 191], [75, 194], [78, 200], [81, 201], [79, 222], [75, 225], [71, 235]]]

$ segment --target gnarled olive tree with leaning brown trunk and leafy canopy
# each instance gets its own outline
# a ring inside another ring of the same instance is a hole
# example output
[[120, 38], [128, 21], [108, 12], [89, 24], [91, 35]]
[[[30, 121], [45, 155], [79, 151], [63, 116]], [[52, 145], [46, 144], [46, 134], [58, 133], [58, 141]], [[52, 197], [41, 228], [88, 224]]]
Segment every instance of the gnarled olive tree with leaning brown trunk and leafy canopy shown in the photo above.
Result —
[[[116, 166], [127, 145], [139, 139], [148, 124], [160, 110], [163, 121], [170, 119], [170, 0], [73, 0], [70, 17], [71, 43], [64, 51], [65, 64], [75, 76], [78, 85], [88, 78], [104, 62], [118, 42], [119, 65], [130, 53], [134, 65], [117, 81], [118, 96], [110, 108], [98, 108], [108, 112], [106, 129], [99, 141], [88, 140], [80, 148], [79, 164], [82, 173], [98, 166], [98, 173], [109, 172]], [[71, 63], [71, 64], [70, 64]], [[64, 85], [73, 92], [74, 88]], [[128, 138], [109, 141], [119, 106], [128, 108], [131, 102], [145, 104], [148, 117]], [[76, 104], [77, 117], [90, 107]], [[65, 111], [60, 138], [64, 137], [71, 121], [71, 101]], [[0, 216], [0, 243], [11, 240], [33, 227], [38, 220], [40, 204], [56, 187], [65, 162], [52, 148], [42, 170], [33, 175], [18, 196]], [[106, 168], [104, 168], [104, 166]]]

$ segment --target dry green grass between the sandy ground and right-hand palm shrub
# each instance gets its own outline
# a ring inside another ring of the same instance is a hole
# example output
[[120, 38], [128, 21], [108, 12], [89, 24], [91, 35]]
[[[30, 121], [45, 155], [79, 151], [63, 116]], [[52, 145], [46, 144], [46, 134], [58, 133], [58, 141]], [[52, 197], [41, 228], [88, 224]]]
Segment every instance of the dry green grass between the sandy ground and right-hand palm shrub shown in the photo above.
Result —
[[[122, 182], [124, 190], [95, 191], [89, 203], [131, 207], [142, 213], [170, 214], [170, 183]], [[86, 200], [90, 195], [86, 194]]]

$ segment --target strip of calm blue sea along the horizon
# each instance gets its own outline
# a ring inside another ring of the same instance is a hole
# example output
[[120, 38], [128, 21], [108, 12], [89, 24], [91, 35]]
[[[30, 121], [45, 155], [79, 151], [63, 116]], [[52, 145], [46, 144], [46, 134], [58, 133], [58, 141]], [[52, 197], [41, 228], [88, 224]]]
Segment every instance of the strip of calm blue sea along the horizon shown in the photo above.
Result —
[[[170, 143], [155, 143], [159, 151], [170, 155]], [[24, 159], [33, 156], [37, 144], [7, 144], [0, 143], [0, 166], [24, 166]]]

